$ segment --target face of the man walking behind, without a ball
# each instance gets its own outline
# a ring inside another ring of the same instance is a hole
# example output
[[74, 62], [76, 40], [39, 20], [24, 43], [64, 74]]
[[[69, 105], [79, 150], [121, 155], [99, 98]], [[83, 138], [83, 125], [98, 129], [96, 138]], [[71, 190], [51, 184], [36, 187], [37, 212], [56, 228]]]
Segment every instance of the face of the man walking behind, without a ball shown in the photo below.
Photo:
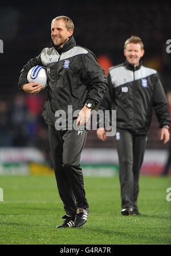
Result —
[[140, 59], [144, 55], [144, 50], [141, 49], [139, 43], [128, 43], [124, 55], [128, 62], [133, 66], [139, 66]]

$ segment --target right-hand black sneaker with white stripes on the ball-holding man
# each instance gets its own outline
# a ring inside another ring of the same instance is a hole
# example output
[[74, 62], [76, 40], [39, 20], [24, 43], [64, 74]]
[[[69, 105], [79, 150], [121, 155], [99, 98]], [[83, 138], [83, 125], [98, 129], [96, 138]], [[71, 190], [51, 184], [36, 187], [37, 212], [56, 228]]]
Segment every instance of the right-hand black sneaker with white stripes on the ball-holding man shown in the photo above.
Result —
[[86, 224], [89, 209], [77, 209], [74, 221], [74, 227], [82, 227]]

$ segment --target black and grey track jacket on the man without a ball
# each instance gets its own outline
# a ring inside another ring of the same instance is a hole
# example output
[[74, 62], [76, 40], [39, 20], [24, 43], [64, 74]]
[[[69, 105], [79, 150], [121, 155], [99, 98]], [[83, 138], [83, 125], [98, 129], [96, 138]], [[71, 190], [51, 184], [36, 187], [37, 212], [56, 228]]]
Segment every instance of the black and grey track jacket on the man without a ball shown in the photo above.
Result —
[[129, 62], [111, 67], [109, 88], [99, 109], [116, 109], [116, 127], [145, 135], [154, 108], [160, 128], [169, 125], [169, 111], [165, 92], [156, 70]]

